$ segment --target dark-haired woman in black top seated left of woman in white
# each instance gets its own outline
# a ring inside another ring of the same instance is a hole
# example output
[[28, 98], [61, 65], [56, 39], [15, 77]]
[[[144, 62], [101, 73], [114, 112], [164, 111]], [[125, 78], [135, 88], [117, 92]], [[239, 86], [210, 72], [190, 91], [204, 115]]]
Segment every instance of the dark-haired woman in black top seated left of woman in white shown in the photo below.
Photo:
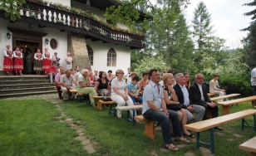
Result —
[[111, 91], [109, 89], [109, 81], [106, 78], [106, 72], [100, 72], [99, 79], [96, 80], [95, 90], [99, 96], [110, 96]]

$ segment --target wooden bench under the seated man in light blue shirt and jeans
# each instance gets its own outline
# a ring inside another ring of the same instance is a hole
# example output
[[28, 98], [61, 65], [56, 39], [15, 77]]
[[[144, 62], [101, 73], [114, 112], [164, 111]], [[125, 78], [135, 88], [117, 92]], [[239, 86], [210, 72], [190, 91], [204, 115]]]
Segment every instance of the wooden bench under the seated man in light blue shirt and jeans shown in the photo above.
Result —
[[135, 119], [138, 119], [139, 121], [145, 121], [144, 134], [150, 137], [150, 139], [155, 139], [155, 121], [150, 119], [145, 119], [143, 115], [137, 115], [135, 116]]

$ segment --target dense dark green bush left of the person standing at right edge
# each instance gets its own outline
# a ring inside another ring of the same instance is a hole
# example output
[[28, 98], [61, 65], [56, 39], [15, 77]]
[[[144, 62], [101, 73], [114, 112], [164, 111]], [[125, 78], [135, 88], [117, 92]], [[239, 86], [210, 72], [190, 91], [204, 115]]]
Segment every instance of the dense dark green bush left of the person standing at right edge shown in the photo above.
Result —
[[250, 80], [250, 72], [245, 72], [239, 76], [221, 76], [219, 78], [219, 85], [223, 86], [227, 95], [239, 93], [241, 96], [247, 97], [253, 95]]

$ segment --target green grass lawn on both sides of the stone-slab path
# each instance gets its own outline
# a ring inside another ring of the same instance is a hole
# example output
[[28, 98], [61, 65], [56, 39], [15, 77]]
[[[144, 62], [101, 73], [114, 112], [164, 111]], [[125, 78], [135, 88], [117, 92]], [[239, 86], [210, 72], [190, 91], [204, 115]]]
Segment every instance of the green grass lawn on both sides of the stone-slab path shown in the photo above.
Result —
[[[88, 155], [82, 149], [79, 141], [73, 139], [76, 131], [67, 124], [57, 122], [61, 113], [46, 100], [0, 101], [0, 154], [1, 155]], [[202, 155], [191, 142], [179, 152], [163, 151], [161, 131], [155, 131], [154, 140], [144, 135], [145, 123], [126, 122], [126, 112], [123, 119], [117, 119], [108, 114], [108, 107], [96, 110], [81, 103], [68, 101], [60, 103], [65, 115], [79, 121], [86, 137], [96, 143], [96, 153], [91, 155], [184, 155], [193, 152]], [[231, 112], [251, 109], [250, 102], [234, 105]], [[219, 107], [219, 115], [221, 107]], [[253, 124], [253, 117], [246, 118]], [[239, 149], [239, 144], [255, 136], [254, 129], [241, 130], [241, 121], [235, 121], [221, 126], [223, 131], [214, 133], [215, 155], [249, 155], [249, 152]], [[194, 132], [192, 132], [195, 134]], [[234, 135], [235, 134], [235, 135]], [[209, 140], [209, 131], [201, 133], [200, 138]], [[191, 141], [191, 139], [190, 139]], [[183, 144], [174, 142], [175, 145]], [[204, 146], [209, 149], [208, 146]]]

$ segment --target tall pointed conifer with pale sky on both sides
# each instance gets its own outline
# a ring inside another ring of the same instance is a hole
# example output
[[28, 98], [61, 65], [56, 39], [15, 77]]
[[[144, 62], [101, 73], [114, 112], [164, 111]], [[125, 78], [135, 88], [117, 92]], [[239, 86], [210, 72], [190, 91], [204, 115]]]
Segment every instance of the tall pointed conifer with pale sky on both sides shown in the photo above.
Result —
[[206, 43], [209, 41], [209, 37], [212, 35], [213, 26], [210, 25], [211, 17], [207, 11], [204, 2], [199, 2], [197, 8], [194, 10], [194, 19], [192, 21], [193, 37], [197, 51], [195, 51], [196, 62], [199, 62], [202, 58], [201, 55], [206, 48]]

